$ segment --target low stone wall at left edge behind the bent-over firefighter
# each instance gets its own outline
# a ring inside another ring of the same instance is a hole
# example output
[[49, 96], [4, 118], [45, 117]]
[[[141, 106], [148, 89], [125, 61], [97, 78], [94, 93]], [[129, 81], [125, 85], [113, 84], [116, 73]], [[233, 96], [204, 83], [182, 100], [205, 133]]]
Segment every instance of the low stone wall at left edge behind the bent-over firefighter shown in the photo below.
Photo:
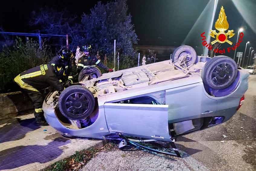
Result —
[[0, 94], [0, 119], [30, 114], [34, 106], [30, 98], [20, 91]]

